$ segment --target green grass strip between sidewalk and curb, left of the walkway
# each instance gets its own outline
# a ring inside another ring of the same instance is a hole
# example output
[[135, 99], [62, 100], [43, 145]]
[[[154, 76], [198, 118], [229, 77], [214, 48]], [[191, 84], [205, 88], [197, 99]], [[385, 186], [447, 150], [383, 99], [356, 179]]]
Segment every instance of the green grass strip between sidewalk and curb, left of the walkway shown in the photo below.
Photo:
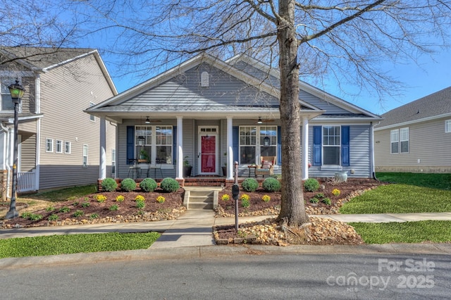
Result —
[[0, 258], [147, 249], [158, 232], [51, 235], [0, 239]]

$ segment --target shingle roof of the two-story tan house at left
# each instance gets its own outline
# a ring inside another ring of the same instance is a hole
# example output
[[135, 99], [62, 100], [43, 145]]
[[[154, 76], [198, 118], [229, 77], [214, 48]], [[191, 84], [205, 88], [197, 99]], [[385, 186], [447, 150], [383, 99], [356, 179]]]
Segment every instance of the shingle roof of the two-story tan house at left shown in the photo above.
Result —
[[[85, 48], [48, 48], [48, 47], [0, 47], [1, 56], [8, 58], [20, 58], [31, 67], [47, 68], [51, 65], [68, 61], [82, 54], [87, 54], [94, 49]], [[2, 55], [3, 54], [3, 55]]]

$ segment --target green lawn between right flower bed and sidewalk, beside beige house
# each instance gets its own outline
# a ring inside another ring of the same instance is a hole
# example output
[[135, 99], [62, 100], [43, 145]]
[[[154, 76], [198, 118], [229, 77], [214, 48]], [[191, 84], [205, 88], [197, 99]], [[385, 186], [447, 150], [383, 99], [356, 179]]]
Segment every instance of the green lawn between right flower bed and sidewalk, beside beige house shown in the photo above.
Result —
[[355, 197], [340, 213], [439, 213], [451, 211], [451, 191], [414, 185], [383, 185]]

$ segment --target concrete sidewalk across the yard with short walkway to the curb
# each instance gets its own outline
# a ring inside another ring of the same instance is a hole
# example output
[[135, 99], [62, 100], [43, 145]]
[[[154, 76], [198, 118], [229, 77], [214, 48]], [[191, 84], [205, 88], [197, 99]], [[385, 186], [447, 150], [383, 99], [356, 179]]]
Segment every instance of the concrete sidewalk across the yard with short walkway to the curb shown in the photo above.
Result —
[[[451, 213], [377, 213], [363, 215], [314, 215], [331, 218], [345, 223], [388, 223], [419, 220], [451, 220]], [[275, 216], [273, 216], [275, 217]], [[268, 215], [240, 217], [239, 223], [271, 218]], [[0, 230], [0, 239], [12, 237], [36, 237], [40, 235], [73, 235], [80, 233], [105, 232], [163, 232], [151, 249], [178, 248], [186, 246], [214, 245], [211, 227], [234, 225], [235, 218], [214, 218], [214, 211], [204, 209], [188, 210], [177, 220], [163, 220], [146, 223], [106, 223], [94, 225], [71, 225], [57, 227], [27, 227]]]

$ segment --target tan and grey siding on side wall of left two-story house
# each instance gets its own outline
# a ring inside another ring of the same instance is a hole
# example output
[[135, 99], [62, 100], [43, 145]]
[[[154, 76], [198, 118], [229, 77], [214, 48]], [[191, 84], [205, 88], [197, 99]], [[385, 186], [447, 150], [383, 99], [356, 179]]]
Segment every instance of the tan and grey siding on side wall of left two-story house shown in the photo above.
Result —
[[[83, 110], [113, 96], [93, 55], [61, 65], [41, 75], [41, 158], [39, 189], [95, 184], [99, 177], [99, 118], [94, 121]], [[54, 151], [46, 151], [46, 139], [54, 140]], [[56, 140], [63, 153], [56, 153]], [[106, 123], [106, 165], [111, 173], [111, 149], [115, 148], [115, 126]], [[70, 154], [64, 143], [71, 144]], [[83, 145], [88, 145], [88, 165], [83, 166]], [[108, 174], [108, 173], [107, 173]]]

